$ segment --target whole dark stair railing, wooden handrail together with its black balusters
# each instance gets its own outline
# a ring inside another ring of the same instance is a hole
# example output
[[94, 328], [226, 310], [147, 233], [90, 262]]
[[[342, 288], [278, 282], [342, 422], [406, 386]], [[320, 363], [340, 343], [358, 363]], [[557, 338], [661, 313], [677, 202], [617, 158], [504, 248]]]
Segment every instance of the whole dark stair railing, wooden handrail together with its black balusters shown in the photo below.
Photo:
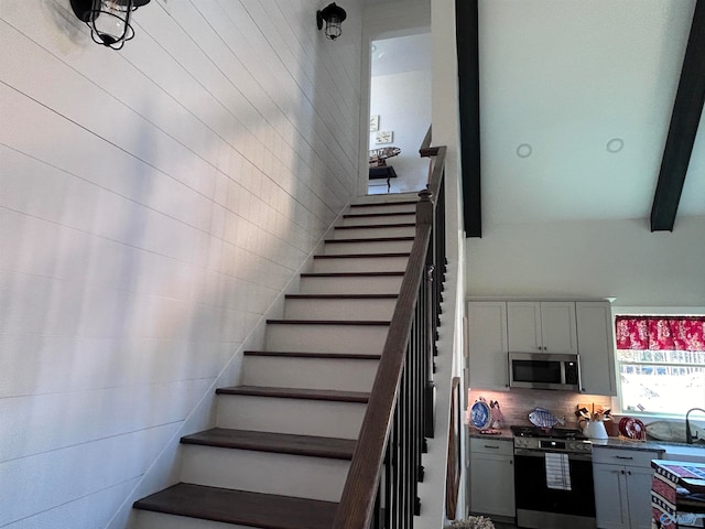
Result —
[[[333, 529], [411, 529], [434, 434], [434, 355], [445, 274], [445, 147], [422, 144], [429, 186]], [[426, 143], [426, 140], [424, 140]]]

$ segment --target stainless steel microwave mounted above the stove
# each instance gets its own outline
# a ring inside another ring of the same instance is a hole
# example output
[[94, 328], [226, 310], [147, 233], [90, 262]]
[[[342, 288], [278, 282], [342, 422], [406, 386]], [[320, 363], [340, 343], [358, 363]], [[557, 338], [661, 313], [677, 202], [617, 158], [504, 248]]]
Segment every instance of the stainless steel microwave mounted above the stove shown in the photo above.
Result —
[[509, 353], [509, 386], [578, 391], [581, 389], [578, 356]]

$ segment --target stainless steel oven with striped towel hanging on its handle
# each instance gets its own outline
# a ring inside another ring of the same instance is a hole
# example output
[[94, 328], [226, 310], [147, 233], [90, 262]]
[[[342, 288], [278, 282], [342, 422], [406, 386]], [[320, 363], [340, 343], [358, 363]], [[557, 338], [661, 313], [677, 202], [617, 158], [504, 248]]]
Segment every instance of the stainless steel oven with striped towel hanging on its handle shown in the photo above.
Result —
[[517, 526], [595, 529], [592, 443], [577, 430], [511, 429]]

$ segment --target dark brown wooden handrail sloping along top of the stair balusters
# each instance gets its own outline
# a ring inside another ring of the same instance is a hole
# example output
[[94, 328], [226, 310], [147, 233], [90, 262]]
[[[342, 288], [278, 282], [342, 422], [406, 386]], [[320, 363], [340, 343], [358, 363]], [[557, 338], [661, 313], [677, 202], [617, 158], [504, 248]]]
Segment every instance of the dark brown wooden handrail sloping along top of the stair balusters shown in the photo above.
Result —
[[427, 261], [430, 255], [432, 259], [434, 256], [433, 251], [430, 252], [430, 245], [433, 247], [435, 237], [435, 206], [442, 197], [446, 148], [426, 149], [435, 152], [429, 188], [419, 194], [413, 247], [333, 529], [367, 529], [375, 517], [375, 509], [380, 508], [377, 505], [378, 489], [408, 361], [412, 326], [419, 319], [416, 305], [429, 270], [433, 269]]

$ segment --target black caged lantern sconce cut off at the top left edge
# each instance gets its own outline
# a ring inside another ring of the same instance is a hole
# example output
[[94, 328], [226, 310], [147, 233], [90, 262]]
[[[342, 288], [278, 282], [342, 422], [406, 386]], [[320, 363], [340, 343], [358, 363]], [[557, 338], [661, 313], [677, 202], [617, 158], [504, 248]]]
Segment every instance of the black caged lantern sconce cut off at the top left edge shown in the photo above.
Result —
[[90, 28], [96, 44], [120, 50], [134, 36], [130, 24], [132, 11], [150, 0], [70, 0], [74, 14]]

